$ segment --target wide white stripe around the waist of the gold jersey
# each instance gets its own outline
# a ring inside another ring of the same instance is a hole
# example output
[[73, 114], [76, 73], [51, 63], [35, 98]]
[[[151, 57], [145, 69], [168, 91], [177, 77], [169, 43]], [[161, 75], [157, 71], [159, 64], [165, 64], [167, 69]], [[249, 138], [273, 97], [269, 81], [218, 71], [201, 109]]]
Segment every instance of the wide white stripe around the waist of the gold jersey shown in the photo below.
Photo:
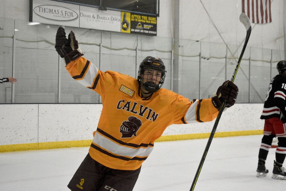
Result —
[[128, 157], [148, 157], [152, 152], [154, 147], [147, 147], [147, 148], [129, 148], [122, 146], [120, 144], [114, 143], [113, 141], [107, 139], [106, 137], [102, 136], [98, 132], [95, 132], [93, 143], [99, 145], [100, 147], [104, 148], [105, 150], [114, 153], [120, 156], [128, 156]]

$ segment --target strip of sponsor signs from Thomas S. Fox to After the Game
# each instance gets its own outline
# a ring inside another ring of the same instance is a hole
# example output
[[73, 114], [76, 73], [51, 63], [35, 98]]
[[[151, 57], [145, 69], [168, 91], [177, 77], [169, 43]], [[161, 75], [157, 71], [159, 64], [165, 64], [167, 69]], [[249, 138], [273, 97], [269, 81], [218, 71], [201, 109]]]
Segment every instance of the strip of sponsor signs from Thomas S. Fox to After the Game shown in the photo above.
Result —
[[130, 12], [99, 10], [49, 0], [33, 0], [31, 21], [43, 24], [107, 30], [121, 33], [157, 35], [157, 17]]

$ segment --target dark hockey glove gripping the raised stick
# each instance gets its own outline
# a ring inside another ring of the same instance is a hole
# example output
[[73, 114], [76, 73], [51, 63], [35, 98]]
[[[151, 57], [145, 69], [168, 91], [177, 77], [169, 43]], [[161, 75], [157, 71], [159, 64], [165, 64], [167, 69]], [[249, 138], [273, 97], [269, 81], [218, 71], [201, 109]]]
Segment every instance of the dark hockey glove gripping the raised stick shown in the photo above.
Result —
[[219, 109], [223, 104], [223, 101], [226, 101], [226, 107], [231, 107], [234, 105], [238, 94], [237, 85], [229, 80], [223, 82], [223, 84], [217, 89], [216, 94], [212, 97], [213, 106], [216, 109]]

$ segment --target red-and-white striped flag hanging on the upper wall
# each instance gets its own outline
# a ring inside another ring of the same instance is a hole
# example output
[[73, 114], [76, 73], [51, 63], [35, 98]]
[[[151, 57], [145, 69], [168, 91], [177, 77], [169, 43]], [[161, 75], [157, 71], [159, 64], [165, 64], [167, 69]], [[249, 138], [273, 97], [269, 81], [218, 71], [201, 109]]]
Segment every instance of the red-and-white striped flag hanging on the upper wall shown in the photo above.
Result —
[[271, 0], [242, 0], [242, 12], [252, 23], [271, 23]]

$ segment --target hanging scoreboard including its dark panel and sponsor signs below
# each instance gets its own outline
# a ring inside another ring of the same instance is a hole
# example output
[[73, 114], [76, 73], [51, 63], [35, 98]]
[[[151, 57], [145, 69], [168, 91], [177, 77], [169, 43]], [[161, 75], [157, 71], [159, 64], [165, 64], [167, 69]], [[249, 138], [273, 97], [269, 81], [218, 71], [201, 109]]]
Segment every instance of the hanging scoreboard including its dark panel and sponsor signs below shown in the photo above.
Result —
[[158, 0], [31, 0], [29, 20], [35, 24], [156, 36], [158, 2]]

